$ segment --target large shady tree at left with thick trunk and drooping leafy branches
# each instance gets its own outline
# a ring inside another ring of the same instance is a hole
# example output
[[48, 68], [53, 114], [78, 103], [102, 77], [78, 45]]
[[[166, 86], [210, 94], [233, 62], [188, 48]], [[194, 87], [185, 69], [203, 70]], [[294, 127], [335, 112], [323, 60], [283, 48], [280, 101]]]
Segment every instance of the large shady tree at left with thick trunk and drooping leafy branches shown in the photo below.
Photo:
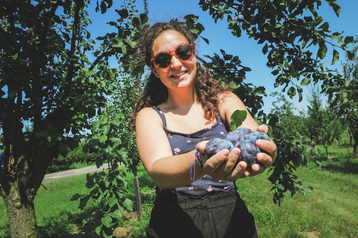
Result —
[[[34, 199], [46, 169], [53, 158], [73, 150], [87, 138], [84, 151], [100, 150], [103, 162], [113, 164], [106, 171], [87, 176], [88, 195], [81, 198], [83, 208], [92, 197], [101, 204], [94, 222], [102, 236], [112, 234], [124, 208], [126, 178], [117, 162], [126, 163], [126, 150], [120, 147], [116, 132], [123, 118], [113, 114], [106, 95], [113, 92], [116, 70], [108, 57], [119, 58], [135, 45], [132, 30], [124, 22], [140, 25], [145, 14], [128, 19], [127, 10], [117, 10], [120, 27], [95, 41], [87, 27], [89, 0], [20, 1], [0, 3], [0, 127], [5, 166], [0, 177], [11, 237], [38, 237]], [[104, 14], [111, 0], [97, 1]], [[98, 13], [100, 14], [100, 13]], [[113, 24], [110, 22], [110, 24]], [[88, 60], [93, 53], [94, 61]], [[33, 130], [24, 130], [24, 123]], [[86, 133], [85, 131], [91, 131]], [[99, 221], [99, 222], [98, 222]]]

